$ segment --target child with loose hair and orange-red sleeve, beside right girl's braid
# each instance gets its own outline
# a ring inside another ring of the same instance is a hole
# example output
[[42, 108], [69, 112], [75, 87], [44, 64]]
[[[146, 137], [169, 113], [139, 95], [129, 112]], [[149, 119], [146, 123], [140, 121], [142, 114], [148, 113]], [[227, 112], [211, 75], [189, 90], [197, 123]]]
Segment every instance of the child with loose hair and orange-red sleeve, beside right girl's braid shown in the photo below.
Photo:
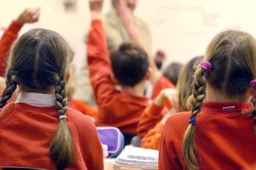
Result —
[[[177, 90], [172, 88], [162, 90], [152, 104], [144, 109], [137, 126], [137, 134], [142, 137], [142, 148], [158, 150], [162, 129], [168, 117], [179, 111], [188, 111], [184, 106], [192, 94], [194, 65], [200, 63], [202, 58], [202, 56], [195, 57], [182, 68], [178, 77]], [[174, 106], [170, 110], [166, 107], [168, 101]]]

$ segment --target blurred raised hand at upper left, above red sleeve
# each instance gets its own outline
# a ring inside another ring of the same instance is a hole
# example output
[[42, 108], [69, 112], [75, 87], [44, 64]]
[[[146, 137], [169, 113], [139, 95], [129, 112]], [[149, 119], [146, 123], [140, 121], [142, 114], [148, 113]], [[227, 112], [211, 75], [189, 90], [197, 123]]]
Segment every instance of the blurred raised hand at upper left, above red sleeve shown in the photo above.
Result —
[[40, 8], [26, 8], [16, 20], [14, 20], [19, 25], [24, 25], [24, 23], [34, 23], [39, 20]]

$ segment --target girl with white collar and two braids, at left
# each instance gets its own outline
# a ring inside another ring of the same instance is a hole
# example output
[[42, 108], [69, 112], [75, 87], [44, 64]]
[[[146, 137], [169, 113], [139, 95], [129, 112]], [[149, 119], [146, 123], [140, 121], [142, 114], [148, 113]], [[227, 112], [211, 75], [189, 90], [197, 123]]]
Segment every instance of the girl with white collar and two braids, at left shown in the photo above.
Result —
[[[74, 52], [58, 33], [32, 29], [10, 49], [0, 97], [0, 167], [103, 170], [92, 120], [68, 108]], [[6, 102], [19, 87], [15, 102]]]

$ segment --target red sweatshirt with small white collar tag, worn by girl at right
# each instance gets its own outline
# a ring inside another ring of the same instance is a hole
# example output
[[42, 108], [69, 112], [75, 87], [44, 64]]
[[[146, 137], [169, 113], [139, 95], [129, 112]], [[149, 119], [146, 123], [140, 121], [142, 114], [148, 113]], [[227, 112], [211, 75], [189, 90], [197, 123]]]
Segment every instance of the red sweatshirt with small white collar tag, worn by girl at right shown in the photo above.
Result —
[[[247, 103], [204, 102], [195, 125], [199, 169], [255, 169], [254, 118], [241, 114], [249, 109]], [[159, 170], [186, 169], [179, 156], [189, 115], [177, 113], [166, 121], [159, 145]]]

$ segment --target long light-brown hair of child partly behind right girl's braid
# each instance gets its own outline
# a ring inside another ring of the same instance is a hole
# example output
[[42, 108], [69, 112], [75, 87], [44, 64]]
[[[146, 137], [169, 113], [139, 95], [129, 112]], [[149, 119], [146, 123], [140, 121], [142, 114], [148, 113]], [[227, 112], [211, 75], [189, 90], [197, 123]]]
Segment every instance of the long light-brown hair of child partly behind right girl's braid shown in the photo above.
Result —
[[197, 65], [203, 59], [203, 56], [194, 57], [191, 59], [180, 71], [177, 90], [179, 97], [179, 104], [182, 111], [188, 111], [186, 107], [186, 101], [188, 97], [192, 94], [192, 82], [194, 80], [193, 75], [195, 72], [194, 65]]

